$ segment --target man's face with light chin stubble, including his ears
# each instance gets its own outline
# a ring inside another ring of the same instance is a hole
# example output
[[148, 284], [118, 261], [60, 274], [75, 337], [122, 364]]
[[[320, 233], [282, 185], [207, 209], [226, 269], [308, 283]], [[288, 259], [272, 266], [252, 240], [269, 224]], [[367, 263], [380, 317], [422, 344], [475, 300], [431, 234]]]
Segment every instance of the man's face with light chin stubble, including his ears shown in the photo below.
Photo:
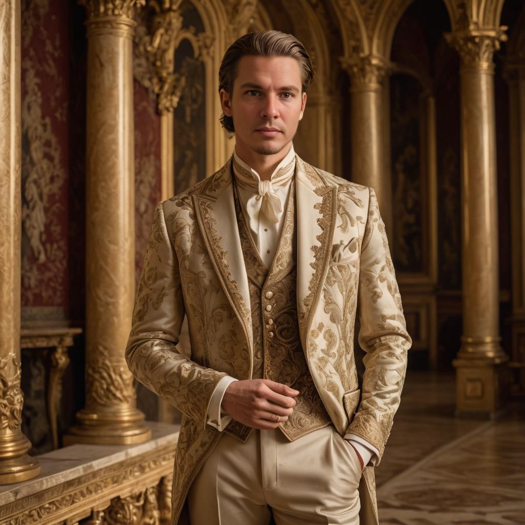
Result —
[[306, 104], [299, 62], [291, 57], [242, 57], [232, 96], [221, 90], [220, 102], [224, 114], [233, 117], [239, 154], [279, 153], [293, 139]]

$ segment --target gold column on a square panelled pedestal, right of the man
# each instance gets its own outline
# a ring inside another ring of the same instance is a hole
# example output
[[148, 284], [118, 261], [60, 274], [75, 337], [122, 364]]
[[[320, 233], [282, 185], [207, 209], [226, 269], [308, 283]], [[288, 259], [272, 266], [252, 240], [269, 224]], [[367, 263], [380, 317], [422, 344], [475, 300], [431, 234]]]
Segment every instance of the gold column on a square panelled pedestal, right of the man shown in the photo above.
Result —
[[507, 360], [499, 337], [496, 120], [492, 56], [500, 29], [447, 39], [461, 59], [463, 336], [456, 367], [458, 412], [494, 414]]

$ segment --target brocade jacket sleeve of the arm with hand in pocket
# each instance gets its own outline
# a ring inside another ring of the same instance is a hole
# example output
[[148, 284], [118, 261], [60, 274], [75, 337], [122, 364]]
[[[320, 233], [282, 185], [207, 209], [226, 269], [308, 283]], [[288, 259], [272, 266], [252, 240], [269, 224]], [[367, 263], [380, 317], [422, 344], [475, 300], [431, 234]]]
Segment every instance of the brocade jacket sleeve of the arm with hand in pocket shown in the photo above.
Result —
[[376, 462], [379, 465], [400, 404], [412, 339], [406, 331], [385, 225], [375, 192], [372, 188], [369, 191], [358, 292], [358, 340], [366, 352], [365, 371], [361, 404], [347, 432], [362, 437], [379, 450]]

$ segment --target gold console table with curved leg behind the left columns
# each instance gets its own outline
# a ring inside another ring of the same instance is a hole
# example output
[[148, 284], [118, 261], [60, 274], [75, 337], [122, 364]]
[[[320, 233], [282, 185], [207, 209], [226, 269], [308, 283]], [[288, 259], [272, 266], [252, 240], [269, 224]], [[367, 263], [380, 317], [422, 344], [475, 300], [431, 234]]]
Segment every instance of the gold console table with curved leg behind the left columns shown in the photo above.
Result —
[[62, 398], [62, 377], [69, 364], [68, 349], [73, 345], [75, 335], [82, 333], [81, 328], [22, 328], [20, 331], [20, 346], [22, 348], [50, 349], [51, 368], [47, 384], [47, 414], [53, 448], [58, 448], [58, 412]]

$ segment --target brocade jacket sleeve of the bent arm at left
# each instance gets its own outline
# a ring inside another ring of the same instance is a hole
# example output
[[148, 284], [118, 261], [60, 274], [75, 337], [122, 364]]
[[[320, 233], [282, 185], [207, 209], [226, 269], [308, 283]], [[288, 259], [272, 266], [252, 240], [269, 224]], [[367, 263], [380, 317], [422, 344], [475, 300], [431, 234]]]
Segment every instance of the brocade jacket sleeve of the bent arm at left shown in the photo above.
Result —
[[184, 313], [178, 258], [159, 203], [144, 256], [125, 360], [138, 381], [204, 428], [215, 386], [227, 374], [201, 366], [177, 350]]

